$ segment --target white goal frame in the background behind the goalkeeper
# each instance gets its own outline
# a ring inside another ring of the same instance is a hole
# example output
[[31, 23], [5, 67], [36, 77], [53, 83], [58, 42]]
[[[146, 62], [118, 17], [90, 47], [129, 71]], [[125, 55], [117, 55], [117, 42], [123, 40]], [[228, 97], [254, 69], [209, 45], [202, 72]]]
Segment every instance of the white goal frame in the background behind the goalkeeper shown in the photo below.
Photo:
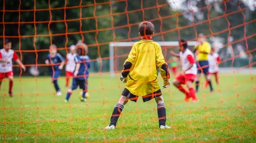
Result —
[[[109, 68], [110, 68], [110, 76], [114, 77], [115, 76], [115, 69], [114, 69], [114, 56], [115, 56], [115, 51], [114, 47], [132, 47], [132, 45], [135, 42], [111, 42], [109, 43]], [[167, 42], [157, 42], [159, 43], [162, 47], [163, 46], [177, 46], [179, 44], [178, 41], [167, 41]], [[189, 41], [188, 46], [194, 46], [196, 45], [196, 41]]]

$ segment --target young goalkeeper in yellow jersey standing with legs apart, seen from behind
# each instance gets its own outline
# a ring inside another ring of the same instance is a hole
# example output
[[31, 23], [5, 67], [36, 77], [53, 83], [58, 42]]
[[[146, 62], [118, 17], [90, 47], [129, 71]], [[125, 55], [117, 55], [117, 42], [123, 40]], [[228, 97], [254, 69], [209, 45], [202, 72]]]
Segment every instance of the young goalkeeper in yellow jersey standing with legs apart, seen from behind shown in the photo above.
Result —
[[164, 60], [161, 47], [152, 40], [154, 25], [150, 22], [139, 24], [139, 35], [142, 38], [136, 42], [125, 60], [121, 81], [126, 83], [118, 103], [115, 105], [110, 124], [105, 129], [114, 129], [117, 120], [128, 100], [137, 101], [141, 96], [143, 101], [155, 98], [159, 128], [170, 128], [166, 123], [164, 99], [158, 83], [158, 69], [164, 80], [163, 88], [170, 86], [168, 65]]

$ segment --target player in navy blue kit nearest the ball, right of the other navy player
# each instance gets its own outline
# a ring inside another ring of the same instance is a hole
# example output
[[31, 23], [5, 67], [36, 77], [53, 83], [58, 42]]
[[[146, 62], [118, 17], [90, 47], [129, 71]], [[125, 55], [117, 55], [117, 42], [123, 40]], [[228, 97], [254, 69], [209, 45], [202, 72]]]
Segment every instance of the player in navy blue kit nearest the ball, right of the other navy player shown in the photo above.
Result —
[[72, 90], [76, 90], [78, 86], [81, 90], [83, 90], [80, 100], [83, 102], [86, 101], [86, 92], [88, 84], [87, 79], [90, 68], [90, 58], [88, 57], [88, 55], [86, 55], [87, 53], [87, 47], [77, 46], [77, 56], [75, 57], [76, 68], [73, 74], [72, 86], [67, 92], [65, 102], [68, 102], [72, 94]]

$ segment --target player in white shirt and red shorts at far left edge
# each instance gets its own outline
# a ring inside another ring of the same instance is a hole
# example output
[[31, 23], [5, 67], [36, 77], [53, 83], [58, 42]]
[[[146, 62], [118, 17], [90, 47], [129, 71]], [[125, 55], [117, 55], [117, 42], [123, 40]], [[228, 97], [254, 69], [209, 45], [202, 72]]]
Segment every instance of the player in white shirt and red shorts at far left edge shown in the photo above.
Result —
[[5, 77], [9, 79], [9, 96], [12, 97], [13, 87], [13, 71], [12, 60], [15, 60], [21, 68], [25, 71], [26, 67], [19, 60], [18, 55], [11, 49], [12, 43], [10, 40], [5, 39], [4, 48], [0, 49], [0, 85]]

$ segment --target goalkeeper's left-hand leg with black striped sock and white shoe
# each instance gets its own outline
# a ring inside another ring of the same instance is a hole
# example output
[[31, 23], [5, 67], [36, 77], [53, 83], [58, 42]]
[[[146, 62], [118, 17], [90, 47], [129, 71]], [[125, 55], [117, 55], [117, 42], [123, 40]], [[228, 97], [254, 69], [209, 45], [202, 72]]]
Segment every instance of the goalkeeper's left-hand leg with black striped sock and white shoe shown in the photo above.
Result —
[[110, 129], [109, 127], [111, 127], [112, 125], [114, 127], [116, 127], [116, 124], [117, 124], [117, 121], [118, 121], [118, 118], [120, 116], [120, 114], [122, 113], [122, 110], [124, 108], [124, 105], [127, 104], [128, 102], [128, 97], [126, 96], [121, 96], [118, 103], [115, 105], [114, 107], [114, 110], [113, 110], [113, 113], [112, 113], [112, 116], [110, 118], [110, 124], [109, 126], [107, 126], [105, 129]]

